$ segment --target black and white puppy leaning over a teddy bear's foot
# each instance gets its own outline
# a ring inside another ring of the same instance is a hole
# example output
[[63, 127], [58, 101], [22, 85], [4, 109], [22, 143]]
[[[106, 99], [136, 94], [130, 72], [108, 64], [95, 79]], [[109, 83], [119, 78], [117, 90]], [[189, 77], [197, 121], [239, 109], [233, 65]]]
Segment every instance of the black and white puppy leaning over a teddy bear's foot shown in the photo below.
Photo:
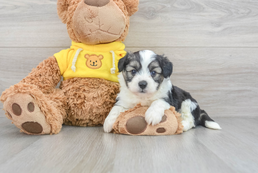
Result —
[[173, 86], [170, 81], [173, 65], [163, 55], [150, 50], [128, 52], [118, 62], [118, 75], [121, 88], [116, 104], [104, 122], [104, 131], [110, 132], [118, 115], [135, 107], [138, 103], [148, 106], [145, 120], [148, 124], [160, 123], [164, 111], [174, 106], [183, 118], [183, 131], [197, 125], [221, 129], [208, 114], [201, 110], [190, 93]]

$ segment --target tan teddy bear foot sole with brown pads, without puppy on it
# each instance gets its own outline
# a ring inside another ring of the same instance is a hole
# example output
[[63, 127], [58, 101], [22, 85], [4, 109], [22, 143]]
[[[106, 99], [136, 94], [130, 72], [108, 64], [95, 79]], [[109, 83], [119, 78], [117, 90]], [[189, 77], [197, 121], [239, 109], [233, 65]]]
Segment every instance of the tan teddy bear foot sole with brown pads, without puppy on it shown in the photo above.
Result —
[[4, 109], [9, 119], [24, 133], [51, 133], [51, 125], [47, 123], [46, 117], [35, 99], [28, 93], [17, 93], [8, 97], [4, 102]]

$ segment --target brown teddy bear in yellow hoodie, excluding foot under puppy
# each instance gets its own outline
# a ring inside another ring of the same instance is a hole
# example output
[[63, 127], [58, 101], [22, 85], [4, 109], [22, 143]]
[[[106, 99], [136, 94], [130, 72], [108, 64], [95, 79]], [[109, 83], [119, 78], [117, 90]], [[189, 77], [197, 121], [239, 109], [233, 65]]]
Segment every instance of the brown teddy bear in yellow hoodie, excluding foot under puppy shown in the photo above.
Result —
[[[27, 134], [56, 134], [62, 124], [98, 126], [111, 110], [125, 56], [129, 17], [139, 0], [57, 0], [72, 40], [1, 95], [9, 119]], [[64, 77], [59, 88], [55, 88]]]

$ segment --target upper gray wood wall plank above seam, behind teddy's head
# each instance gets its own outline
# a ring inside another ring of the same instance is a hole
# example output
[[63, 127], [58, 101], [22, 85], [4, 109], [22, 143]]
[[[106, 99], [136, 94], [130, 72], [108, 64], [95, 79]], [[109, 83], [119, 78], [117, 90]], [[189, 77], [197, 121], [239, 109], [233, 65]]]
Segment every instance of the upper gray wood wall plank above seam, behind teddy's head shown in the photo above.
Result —
[[[256, 0], [141, 0], [128, 47], [258, 47]], [[56, 0], [0, 0], [0, 47], [66, 47]]]

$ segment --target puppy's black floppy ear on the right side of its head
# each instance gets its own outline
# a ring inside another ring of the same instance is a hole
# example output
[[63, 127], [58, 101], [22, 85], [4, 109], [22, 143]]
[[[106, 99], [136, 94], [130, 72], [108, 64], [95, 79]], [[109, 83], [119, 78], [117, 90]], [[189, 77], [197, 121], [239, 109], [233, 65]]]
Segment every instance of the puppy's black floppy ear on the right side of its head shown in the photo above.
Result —
[[162, 73], [163, 73], [163, 77], [167, 78], [170, 77], [172, 72], [173, 72], [173, 64], [172, 62], [169, 61], [169, 59], [167, 57], [165, 57], [164, 55], [157, 55], [159, 61], [160, 61], [160, 66], [162, 68]]

